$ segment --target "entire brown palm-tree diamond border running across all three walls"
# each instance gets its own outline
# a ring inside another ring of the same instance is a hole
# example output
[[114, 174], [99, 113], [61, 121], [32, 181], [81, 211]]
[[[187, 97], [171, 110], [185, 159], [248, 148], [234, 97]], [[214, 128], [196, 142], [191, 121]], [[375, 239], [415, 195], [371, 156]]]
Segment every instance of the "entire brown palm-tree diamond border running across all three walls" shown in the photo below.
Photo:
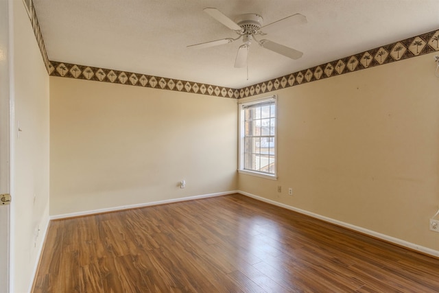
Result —
[[269, 93], [278, 89], [285, 89], [290, 86], [307, 84], [324, 78], [351, 73], [385, 65], [407, 58], [413, 58], [425, 54], [439, 51], [439, 30], [427, 32], [412, 38], [406, 38], [396, 43], [391, 43], [379, 48], [370, 49], [352, 56], [333, 60], [309, 69], [304, 69], [295, 73], [283, 75], [242, 89], [230, 89], [213, 84], [199, 84], [185, 80], [172, 80], [171, 78], [161, 78], [159, 76], [145, 75], [143, 73], [132, 73], [128, 71], [117, 71], [114, 69], [102, 69], [89, 67], [86, 65], [74, 65], [66, 62], [50, 61], [47, 57], [43, 35], [32, 0], [23, 0], [25, 8], [29, 14], [29, 19], [34, 29], [34, 34], [41, 56], [45, 63], [47, 73], [52, 76], [63, 78], [77, 78], [82, 80], [95, 80], [97, 82], [110, 82], [115, 84], [127, 84], [131, 86], [150, 87], [154, 89], [166, 89], [170, 91], [182, 91], [185, 93], [198, 93], [202, 95], [212, 95], [217, 97], [228, 97], [241, 99]]

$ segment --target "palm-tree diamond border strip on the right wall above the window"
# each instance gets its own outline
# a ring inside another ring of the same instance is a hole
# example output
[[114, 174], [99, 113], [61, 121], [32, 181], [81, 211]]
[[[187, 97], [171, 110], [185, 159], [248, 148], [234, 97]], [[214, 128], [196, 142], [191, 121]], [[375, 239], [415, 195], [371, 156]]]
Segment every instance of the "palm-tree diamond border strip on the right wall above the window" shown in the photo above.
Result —
[[396, 43], [370, 49], [353, 56], [274, 78], [273, 80], [246, 86], [243, 89], [239, 89], [238, 99], [385, 65], [390, 62], [421, 56], [434, 51], [439, 51], [439, 30], [406, 38]]

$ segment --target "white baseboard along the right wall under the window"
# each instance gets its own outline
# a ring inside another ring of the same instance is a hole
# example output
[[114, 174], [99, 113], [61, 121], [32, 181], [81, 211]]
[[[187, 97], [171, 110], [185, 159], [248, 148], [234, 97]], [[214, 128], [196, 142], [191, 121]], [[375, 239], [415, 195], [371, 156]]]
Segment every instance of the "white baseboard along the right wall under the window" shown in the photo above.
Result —
[[322, 220], [324, 222], [329, 222], [329, 223], [335, 224], [337, 226], [342, 226], [344, 228], [348, 228], [348, 229], [351, 229], [353, 231], [357, 231], [359, 233], [363, 233], [363, 234], [366, 234], [366, 235], [369, 235], [369, 236], [372, 236], [372, 237], [376, 237], [376, 238], [382, 239], [382, 240], [384, 240], [386, 242], [390, 242], [392, 244], [397, 244], [399, 246], [403, 246], [403, 247], [406, 247], [406, 248], [410, 248], [412, 250], [416, 250], [416, 251], [418, 251], [420, 253], [425, 253], [426, 255], [432, 255], [434, 257], [439, 257], [439, 250], [434, 250], [434, 249], [431, 249], [431, 248], [428, 248], [428, 247], [425, 247], [425, 246], [420, 246], [418, 244], [407, 242], [407, 241], [405, 241], [403, 239], [399, 239], [399, 238], [396, 238], [396, 237], [388, 236], [388, 235], [385, 235], [385, 234], [378, 233], [376, 231], [372, 231], [372, 230], [369, 230], [369, 229], [366, 229], [366, 228], [355, 226], [353, 224], [348, 224], [346, 222], [342, 222], [342, 221], [339, 221], [339, 220], [328, 218], [328, 217], [325, 217], [324, 215], [319, 215], [318, 213], [312, 213], [311, 211], [305, 211], [303, 209], [298, 209], [296, 207], [292, 207], [292, 206], [289, 206], [287, 204], [283, 204], [281, 202], [276, 202], [274, 200], [269, 200], [268, 198], [262, 198], [261, 196], [255, 196], [254, 194], [249, 194], [248, 192], [245, 192], [245, 191], [238, 191], [238, 192], [239, 192], [239, 194], [242, 194], [244, 196], [248, 196], [250, 198], [254, 198], [256, 200], [261, 200], [262, 202], [267, 202], [269, 204], [274, 204], [274, 205], [276, 205], [278, 207], [283, 207], [283, 208], [289, 209], [291, 211], [296, 211], [297, 213], [302, 213], [303, 215], [308, 215], [311, 218], [316, 218], [316, 219]]

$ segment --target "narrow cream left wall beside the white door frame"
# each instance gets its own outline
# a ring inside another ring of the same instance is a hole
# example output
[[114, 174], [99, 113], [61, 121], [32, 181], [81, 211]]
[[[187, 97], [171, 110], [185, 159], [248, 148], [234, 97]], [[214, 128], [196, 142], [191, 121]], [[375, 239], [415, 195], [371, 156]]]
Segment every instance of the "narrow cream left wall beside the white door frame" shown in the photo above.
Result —
[[[32, 285], [43, 234], [49, 222], [49, 76], [23, 1], [11, 1], [14, 32], [13, 248], [14, 289]], [[40, 228], [39, 236], [36, 230]]]

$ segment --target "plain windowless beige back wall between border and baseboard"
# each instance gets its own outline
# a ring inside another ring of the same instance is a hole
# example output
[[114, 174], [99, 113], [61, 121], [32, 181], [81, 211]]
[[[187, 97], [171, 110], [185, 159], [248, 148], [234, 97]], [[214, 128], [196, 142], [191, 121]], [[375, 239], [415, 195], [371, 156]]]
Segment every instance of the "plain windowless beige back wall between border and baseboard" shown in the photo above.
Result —
[[51, 77], [50, 214], [236, 190], [236, 109], [234, 99]]

